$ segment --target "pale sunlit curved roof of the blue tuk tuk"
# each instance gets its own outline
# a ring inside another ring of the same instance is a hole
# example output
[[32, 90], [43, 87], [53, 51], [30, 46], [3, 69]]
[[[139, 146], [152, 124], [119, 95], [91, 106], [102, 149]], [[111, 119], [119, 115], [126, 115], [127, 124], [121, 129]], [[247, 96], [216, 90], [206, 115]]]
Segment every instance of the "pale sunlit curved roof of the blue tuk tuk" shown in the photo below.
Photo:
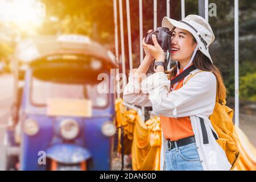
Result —
[[105, 62], [104, 65], [109, 65], [112, 68], [118, 67], [112, 52], [82, 35], [36, 36], [23, 40], [15, 50], [15, 56], [19, 61], [30, 64], [49, 56], [67, 54], [98, 57]]

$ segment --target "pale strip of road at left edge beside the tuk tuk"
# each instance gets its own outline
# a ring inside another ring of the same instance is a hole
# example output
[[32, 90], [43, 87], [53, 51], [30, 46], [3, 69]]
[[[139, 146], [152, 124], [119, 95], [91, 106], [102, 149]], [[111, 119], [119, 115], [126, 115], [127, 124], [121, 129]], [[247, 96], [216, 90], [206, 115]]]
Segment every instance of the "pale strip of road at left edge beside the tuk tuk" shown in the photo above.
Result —
[[5, 126], [10, 115], [10, 106], [13, 100], [13, 77], [11, 75], [0, 75], [0, 170], [5, 163], [3, 153], [3, 136]]

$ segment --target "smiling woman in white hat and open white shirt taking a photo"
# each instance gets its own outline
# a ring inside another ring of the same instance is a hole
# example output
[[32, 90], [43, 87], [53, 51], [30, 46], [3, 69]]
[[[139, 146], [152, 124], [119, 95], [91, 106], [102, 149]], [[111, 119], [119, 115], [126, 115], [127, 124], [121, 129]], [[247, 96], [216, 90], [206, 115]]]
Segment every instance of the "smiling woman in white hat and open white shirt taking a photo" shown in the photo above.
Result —
[[162, 27], [173, 30], [171, 58], [176, 60], [176, 66], [169, 76], [175, 77], [194, 65], [196, 69], [190, 72], [193, 77], [187, 80], [188, 75], [170, 88], [164, 64], [157, 64], [155, 73], [145, 77], [152, 61], [164, 62], [164, 51], [152, 36], [154, 46], [145, 44], [143, 39], [146, 56], [138, 69], [131, 70], [123, 99], [131, 104], [152, 106], [160, 115], [161, 169], [230, 170], [231, 165], [214, 138], [217, 133], [209, 120], [216, 93], [220, 100], [226, 97], [221, 73], [209, 54], [209, 45], [214, 40], [212, 28], [197, 15], [188, 15], [181, 21], [164, 17]]

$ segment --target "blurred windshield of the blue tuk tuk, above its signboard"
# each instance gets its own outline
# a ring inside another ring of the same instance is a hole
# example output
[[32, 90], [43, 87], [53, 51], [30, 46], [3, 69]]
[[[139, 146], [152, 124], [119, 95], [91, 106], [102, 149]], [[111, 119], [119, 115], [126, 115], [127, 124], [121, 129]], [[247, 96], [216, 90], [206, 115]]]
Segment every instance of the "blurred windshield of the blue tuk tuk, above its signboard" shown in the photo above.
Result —
[[[68, 79], [67, 79], [68, 80]], [[108, 94], [98, 90], [98, 82], [86, 80], [58, 81], [58, 79], [42, 79], [32, 76], [31, 102], [36, 106], [46, 106], [49, 99], [64, 98], [74, 100], [90, 100], [93, 107], [106, 107]]]

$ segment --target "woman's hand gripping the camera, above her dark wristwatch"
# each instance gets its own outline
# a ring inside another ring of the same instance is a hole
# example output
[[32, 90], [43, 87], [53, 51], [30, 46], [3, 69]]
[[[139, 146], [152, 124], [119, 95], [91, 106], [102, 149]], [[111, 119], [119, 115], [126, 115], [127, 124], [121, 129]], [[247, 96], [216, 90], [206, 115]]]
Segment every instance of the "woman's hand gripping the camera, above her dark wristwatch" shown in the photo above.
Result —
[[[151, 32], [152, 30], [148, 31], [148, 32]], [[162, 49], [162, 47], [160, 47], [160, 45], [158, 44], [158, 41], [156, 40], [156, 36], [153, 34], [152, 35], [152, 41], [154, 43], [154, 46], [150, 45], [150, 44], [146, 44], [144, 42], [144, 39], [143, 38], [143, 41], [142, 41], [142, 45], [143, 45], [143, 48], [144, 50], [146, 49], [147, 50], [147, 54], [149, 54], [151, 57], [153, 57], [153, 59], [155, 59], [156, 61], [164, 61], [164, 51]]]

